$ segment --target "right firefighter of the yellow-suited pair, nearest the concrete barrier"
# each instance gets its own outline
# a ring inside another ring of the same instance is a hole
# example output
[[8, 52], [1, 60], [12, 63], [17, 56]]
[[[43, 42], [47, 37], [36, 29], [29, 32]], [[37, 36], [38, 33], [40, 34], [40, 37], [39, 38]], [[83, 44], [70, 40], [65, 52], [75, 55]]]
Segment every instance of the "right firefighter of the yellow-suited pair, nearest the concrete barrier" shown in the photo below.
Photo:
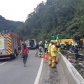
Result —
[[54, 41], [52, 42], [52, 46], [51, 46], [51, 58], [52, 58], [52, 64], [51, 67], [55, 68], [55, 63], [56, 63], [56, 56], [57, 56], [57, 49], [56, 49], [56, 44], [57, 42]]

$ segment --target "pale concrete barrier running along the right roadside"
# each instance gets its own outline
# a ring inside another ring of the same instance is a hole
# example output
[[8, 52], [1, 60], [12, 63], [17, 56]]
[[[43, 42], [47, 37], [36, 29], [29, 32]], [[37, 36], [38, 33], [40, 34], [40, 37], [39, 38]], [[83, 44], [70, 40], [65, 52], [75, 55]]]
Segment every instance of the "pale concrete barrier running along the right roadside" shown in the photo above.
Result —
[[83, 77], [74, 68], [74, 66], [61, 54], [60, 63], [64, 70], [64, 75], [67, 78], [68, 84], [84, 84]]

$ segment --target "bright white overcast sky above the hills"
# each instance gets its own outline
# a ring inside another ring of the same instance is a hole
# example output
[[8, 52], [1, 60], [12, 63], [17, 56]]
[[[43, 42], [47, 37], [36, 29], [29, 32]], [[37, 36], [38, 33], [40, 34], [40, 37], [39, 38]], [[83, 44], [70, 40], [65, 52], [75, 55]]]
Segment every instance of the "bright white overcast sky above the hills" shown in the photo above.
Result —
[[0, 15], [7, 20], [25, 22], [42, 1], [46, 0], [0, 0]]

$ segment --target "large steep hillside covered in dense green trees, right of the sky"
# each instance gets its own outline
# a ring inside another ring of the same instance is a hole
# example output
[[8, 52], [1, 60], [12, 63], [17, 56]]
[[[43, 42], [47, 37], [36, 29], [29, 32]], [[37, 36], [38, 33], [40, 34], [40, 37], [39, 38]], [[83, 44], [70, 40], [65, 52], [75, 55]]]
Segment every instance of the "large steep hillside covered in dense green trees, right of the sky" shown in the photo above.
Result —
[[28, 15], [18, 32], [24, 39], [47, 39], [61, 34], [73, 37], [84, 33], [84, 0], [47, 0]]

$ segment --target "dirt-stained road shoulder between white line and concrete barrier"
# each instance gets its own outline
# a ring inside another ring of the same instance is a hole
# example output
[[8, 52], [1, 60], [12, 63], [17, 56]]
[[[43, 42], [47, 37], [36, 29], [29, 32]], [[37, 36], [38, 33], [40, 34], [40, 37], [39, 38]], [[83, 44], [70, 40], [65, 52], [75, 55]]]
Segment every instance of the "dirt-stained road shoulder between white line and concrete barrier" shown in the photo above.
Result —
[[39, 84], [68, 84], [60, 61], [57, 68], [51, 68], [48, 61], [43, 61]]

